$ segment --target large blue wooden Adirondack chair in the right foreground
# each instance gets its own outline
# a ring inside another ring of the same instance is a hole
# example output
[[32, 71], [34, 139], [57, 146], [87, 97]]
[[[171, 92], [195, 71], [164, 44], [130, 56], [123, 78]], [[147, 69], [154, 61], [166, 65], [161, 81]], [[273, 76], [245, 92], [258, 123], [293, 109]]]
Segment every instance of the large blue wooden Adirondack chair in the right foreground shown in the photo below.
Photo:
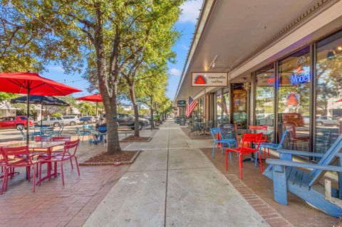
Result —
[[[280, 159], [266, 159], [269, 166], [264, 175], [273, 179], [274, 200], [279, 204], [287, 205], [287, 191], [304, 199], [307, 203], [318, 208], [329, 216], [342, 217], [342, 134], [331, 145], [326, 154], [314, 152], [299, 152], [288, 149], [279, 149]], [[307, 157], [319, 157], [318, 164], [293, 162], [292, 157], [296, 155]], [[338, 159], [338, 166], [331, 165]], [[310, 172], [299, 168], [312, 169]], [[325, 188], [317, 184], [326, 171], [338, 173], [338, 189], [331, 188], [328, 193], [333, 199], [326, 199]], [[334, 201], [339, 202], [334, 202]]]

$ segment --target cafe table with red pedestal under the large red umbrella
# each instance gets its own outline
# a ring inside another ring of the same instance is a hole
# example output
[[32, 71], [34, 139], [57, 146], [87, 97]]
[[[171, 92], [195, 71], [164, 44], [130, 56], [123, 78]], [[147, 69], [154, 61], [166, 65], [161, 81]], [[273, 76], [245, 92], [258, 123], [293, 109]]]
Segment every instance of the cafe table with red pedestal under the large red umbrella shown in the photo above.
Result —
[[[30, 152], [33, 152], [34, 149], [39, 149], [39, 152], [46, 152], [48, 159], [51, 159], [51, 153], [53, 147], [63, 146], [63, 144], [67, 140], [59, 140], [55, 142], [35, 142], [29, 141], [28, 142], [28, 149]], [[0, 147], [24, 147], [26, 146], [26, 141], [11, 141], [11, 142], [1, 142]], [[46, 179], [51, 179], [51, 169], [52, 165], [51, 162], [47, 162], [48, 164], [48, 174], [44, 176], [41, 181]], [[56, 175], [55, 175], [56, 176]], [[38, 182], [39, 183], [39, 182]]]

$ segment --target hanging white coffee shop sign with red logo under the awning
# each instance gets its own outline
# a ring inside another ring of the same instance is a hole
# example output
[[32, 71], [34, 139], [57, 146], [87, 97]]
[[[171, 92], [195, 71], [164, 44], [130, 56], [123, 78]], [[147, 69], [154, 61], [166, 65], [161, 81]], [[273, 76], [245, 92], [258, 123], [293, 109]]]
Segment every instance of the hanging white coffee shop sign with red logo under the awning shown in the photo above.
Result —
[[227, 87], [228, 73], [192, 73], [192, 87]]

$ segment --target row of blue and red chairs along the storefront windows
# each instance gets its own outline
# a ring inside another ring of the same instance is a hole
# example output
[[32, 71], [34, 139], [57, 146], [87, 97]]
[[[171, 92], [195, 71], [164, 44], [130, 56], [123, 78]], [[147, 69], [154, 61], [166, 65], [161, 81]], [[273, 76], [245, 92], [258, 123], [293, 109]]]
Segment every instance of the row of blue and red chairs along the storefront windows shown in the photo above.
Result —
[[[274, 201], [287, 205], [287, 191], [291, 191], [328, 216], [341, 217], [342, 201], [340, 199], [342, 196], [339, 187], [342, 181], [342, 162], [338, 161], [337, 166], [331, 164], [342, 157], [341, 154], [338, 154], [341, 150], [342, 136], [336, 139], [336, 142], [325, 154], [301, 152], [293, 150], [296, 148], [293, 143], [294, 141], [302, 142], [306, 138], [294, 140], [296, 135], [292, 125], [286, 125], [284, 129], [279, 144], [273, 144], [268, 139], [273, 130], [268, 130], [266, 126], [249, 126], [249, 130], [238, 130], [237, 125], [226, 124], [222, 127], [211, 128], [212, 159], [214, 159], [215, 150], [220, 151], [224, 154], [224, 169], [229, 171], [229, 160], [232, 162], [236, 153], [239, 163], [239, 178], [243, 179], [243, 167], [254, 163], [254, 168], [259, 168], [260, 174], [274, 181]], [[283, 148], [286, 139], [288, 142], [286, 147], [291, 144], [292, 150]], [[276, 152], [276, 159], [266, 159], [266, 156], [270, 156], [269, 149]], [[264, 158], [262, 158], [261, 152], [264, 152]], [[301, 161], [300, 157], [319, 158], [319, 162], [308, 163], [305, 159]], [[294, 161], [295, 158], [296, 161]], [[257, 167], [258, 165], [259, 167]], [[301, 169], [312, 169], [312, 171], [307, 173]], [[338, 181], [331, 182], [333, 180], [325, 179], [323, 184], [319, 183], [324, 179], [323, 176], [327, 171], [336, 172]]]

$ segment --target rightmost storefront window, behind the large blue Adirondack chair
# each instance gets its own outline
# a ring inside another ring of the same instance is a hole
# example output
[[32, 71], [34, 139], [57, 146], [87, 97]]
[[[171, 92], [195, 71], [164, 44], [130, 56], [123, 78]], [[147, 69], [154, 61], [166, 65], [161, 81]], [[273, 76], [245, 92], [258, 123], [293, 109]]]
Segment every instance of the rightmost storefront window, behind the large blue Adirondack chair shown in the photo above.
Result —
[[341, 134], [342, 31], [316, 45], [315, 152], [325, 153]]

